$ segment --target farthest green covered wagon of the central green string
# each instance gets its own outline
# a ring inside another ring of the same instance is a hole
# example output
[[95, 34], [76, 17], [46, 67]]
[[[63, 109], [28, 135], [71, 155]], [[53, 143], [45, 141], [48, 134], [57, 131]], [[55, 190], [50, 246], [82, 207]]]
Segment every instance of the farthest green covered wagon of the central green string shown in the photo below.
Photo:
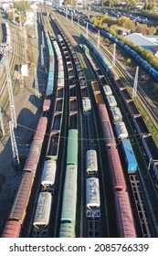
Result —
[[78, 165], [78, 130], [68, 131], [67, 165]]

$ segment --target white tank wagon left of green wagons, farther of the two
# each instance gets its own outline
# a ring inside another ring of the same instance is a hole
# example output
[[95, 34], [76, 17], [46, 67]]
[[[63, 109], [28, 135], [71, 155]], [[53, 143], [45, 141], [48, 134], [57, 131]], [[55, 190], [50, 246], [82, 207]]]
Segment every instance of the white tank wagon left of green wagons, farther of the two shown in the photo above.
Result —
[[56, 177], [57, 162], [54, 160], [45, 161], [41, 185], [43, 187], [53, 187]]

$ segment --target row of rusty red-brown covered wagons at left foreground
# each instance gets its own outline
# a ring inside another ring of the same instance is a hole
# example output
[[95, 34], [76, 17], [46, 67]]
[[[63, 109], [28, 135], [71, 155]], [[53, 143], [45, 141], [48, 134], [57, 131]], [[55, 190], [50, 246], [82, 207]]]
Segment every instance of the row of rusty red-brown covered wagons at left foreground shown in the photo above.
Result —
[[20, 232], [26, 217], [29, 197], [31, 195], [31, 190], [37, 172], [37, 164], [46, 129], [47, 117], [40, 117], [37, 123], [36, 133], [27, 155], [21, 183], [17, 189], [13, 207], [5, 223], [5, 229], [2, 235], [3, 238], [17, 238], [20, 236]]

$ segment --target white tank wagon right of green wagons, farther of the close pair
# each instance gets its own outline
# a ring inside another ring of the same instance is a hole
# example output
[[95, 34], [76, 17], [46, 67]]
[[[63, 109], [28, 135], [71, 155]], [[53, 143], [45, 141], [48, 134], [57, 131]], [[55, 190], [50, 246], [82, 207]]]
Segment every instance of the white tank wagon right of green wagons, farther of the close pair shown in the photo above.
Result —
[[86, 172], [88, 175], [98, 172], [97, 152], [93, 149], [88, 150], [86, 154]]

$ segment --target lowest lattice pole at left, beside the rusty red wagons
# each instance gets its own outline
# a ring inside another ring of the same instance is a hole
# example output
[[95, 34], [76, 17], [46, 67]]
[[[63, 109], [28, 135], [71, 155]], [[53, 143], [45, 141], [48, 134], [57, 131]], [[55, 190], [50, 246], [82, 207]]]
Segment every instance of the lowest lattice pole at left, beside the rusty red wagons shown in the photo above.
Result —
[[12, 123], [12, 121], [9, 121], [9, 129], [10, 129], [10, 138], [11, 138], [14, 165], [18, 169], [20, 169], [20, 161], [19, 161], [19, 156], [17, 151], [16, 137], [14, 133], [14, 123]]

